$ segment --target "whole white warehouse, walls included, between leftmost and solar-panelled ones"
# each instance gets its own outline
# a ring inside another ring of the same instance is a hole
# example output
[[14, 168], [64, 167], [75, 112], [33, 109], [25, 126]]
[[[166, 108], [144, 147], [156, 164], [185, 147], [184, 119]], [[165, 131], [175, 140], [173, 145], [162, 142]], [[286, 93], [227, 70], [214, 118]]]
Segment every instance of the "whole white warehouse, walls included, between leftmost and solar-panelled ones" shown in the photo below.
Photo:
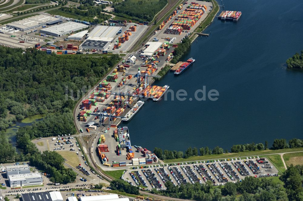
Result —
[[41, 29], [40, 33], [60, 37], [69, 33], [73, 33], [74, 31], [85, 29], [87, 27], [88, 25], [86, 24], [70, 21], [70, 22], [65, 22], [63, 24], [58, 24], [56, 26]]

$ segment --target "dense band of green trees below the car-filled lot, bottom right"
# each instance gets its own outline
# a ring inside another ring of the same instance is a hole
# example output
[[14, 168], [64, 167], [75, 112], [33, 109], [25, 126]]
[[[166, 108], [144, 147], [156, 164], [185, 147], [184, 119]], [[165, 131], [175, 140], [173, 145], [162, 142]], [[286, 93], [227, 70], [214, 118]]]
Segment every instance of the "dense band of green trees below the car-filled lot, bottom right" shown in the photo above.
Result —
[[[303, 189], [300, 179], [302, 165], [290, 166], [280, 177], [284, 182], [277, 183], [268, 178], [245, 177], [241, 182], [227, 182], [224, 186], [213, 186], [211, 181], [205, 184], [181, 184], [175, 186], [170, 181], [165, 182], [166, 190], [152, 193], [165, 196], [203, 201], [239, 200], [239, 201], [268, 201], [268, 200], [302, 200]], [[226, 196], [226, 197], [222, 197]]]

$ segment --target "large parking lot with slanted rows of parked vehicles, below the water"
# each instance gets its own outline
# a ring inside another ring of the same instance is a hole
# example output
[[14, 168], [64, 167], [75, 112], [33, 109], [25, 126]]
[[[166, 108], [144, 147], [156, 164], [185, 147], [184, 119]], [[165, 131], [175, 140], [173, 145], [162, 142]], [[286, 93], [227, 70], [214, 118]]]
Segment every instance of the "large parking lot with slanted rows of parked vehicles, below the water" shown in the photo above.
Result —
[[275, 177], [278, 176], [278, 170], [267, 158], [237, 158], [137, 167], [127, 170], [123, 179], [135, 186], [160, 190], [165, 189], [164, 183], [167, 181], [181, 185], [210, 180], [213, 185], [224, 185], [226, 182], [241, 181], [247, 176]]

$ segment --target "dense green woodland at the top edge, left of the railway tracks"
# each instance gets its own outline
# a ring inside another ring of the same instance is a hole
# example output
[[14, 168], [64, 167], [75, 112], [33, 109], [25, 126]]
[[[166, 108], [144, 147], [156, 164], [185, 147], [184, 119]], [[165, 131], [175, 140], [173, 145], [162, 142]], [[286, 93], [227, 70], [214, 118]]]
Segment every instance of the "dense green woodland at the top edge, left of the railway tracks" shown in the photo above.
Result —
[[125, 17], [130, 19], [152, 21], [155, 15], [161, 11], [166, 4], [167, 0], [125, 0], [114, 4], [113, 7], [115, 9], [114, 14], [118, 16], [124, 14]]

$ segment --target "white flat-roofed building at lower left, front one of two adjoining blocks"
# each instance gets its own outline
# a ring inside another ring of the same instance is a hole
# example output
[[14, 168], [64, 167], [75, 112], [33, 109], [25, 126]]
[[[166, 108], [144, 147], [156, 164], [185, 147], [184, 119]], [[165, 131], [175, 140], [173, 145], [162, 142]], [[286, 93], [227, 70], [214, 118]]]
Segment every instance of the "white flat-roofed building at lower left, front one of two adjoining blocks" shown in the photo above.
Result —
[[43, 185], [43, 179], [40, 173], [8, 175], [8, 182], [10, 187]]

